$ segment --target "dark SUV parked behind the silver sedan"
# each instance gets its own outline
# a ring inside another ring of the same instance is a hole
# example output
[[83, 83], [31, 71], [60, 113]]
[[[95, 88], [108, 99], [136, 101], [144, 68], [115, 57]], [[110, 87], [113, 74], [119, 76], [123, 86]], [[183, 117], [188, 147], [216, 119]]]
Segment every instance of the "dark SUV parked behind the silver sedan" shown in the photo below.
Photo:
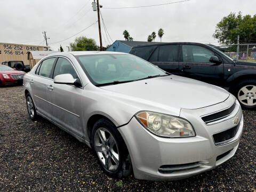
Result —
[[140, 45], [133, 47], [130, 53], [172, 74], [228, 87], [244, 108], [256, 108], [255, 62], [234, 60], [201, 43]]

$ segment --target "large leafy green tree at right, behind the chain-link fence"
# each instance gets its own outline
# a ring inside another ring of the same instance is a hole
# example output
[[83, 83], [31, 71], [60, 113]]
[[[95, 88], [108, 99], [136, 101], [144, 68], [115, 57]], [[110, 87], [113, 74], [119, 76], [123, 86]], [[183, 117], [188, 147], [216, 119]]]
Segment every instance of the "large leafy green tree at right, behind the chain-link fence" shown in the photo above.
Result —
[[223, 17], [215, 28], [214, 38], [222, 44], [236, 44], [256, 42], [256, 15], [242, 15], [242, 12], [230, 13]]

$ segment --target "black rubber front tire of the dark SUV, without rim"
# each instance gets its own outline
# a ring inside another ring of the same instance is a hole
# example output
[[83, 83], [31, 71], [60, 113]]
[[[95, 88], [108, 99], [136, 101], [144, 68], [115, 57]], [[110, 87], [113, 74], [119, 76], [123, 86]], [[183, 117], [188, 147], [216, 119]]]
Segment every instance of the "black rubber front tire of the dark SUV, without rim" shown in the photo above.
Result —
[[[255, 85], [256, 86], [256, 79], [244, 79], [243, 81], [241, 82], [238, 82], [237, 84], [234, 85], [234, 87], [231, 87], [231, 90], [230, 92], [232, 94], [235, 95], [235, 97], [237, 98], [238, 100], [238, 91], [243, 87], [243, 86], [246, 86], [246, 85]], [[256, 95], [256, 93], [255, 93]], [[255, 98], [256, 99], [256, 98]], [[238, 100], [239, 101], [239, 100]], [[239, 101], [240, 102], [240, 101]], [[243, 109], [256, 109], [256, 105], [254, 106], [246, 106], [244, 105], [243, 103], [240, 102], [240, 105], [242, 106]]]

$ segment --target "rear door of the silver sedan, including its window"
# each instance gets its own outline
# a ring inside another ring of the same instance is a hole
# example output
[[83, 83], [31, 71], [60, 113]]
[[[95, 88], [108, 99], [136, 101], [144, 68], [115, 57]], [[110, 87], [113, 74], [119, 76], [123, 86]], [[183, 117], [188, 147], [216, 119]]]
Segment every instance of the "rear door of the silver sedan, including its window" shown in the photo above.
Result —
[[35, 71], [35, 75], [30, 79], [33, 89], [33, 99], [39, 113], [46, 117], [51, 117], [51, 109], [49, 107], [49, 84], [53, 83], [51, 78], [52, 68], [55, 57], [43, 60]]

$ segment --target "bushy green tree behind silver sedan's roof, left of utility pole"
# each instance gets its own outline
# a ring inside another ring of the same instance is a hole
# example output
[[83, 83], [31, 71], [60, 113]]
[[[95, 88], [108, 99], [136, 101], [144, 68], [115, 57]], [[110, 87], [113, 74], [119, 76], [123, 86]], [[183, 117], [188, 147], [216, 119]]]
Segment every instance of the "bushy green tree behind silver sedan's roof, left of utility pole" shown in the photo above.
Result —
[[98, 51], [99, 48], [93, 38], [85, 36], [77, 37], [74, 43], [70, 43], [71, 51]]

